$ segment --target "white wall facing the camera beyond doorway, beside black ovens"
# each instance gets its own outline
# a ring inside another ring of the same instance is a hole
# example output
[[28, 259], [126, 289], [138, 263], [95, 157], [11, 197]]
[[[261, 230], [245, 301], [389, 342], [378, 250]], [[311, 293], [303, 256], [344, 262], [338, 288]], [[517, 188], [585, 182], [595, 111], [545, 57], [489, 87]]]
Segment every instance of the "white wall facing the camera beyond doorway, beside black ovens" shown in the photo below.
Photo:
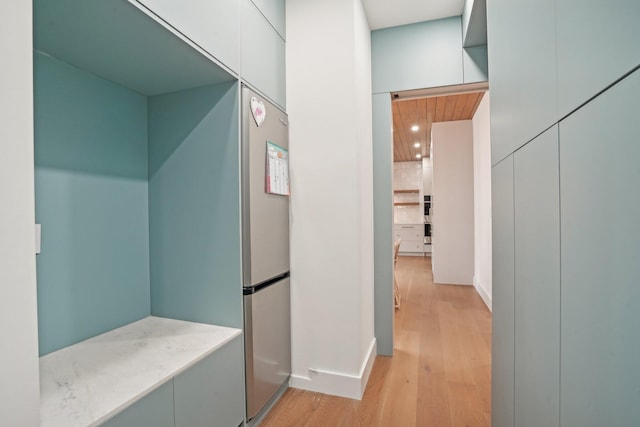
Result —
[[471, 120], [434, 123], [432, 144], [433, 280], [471, 285], [474, 268]]

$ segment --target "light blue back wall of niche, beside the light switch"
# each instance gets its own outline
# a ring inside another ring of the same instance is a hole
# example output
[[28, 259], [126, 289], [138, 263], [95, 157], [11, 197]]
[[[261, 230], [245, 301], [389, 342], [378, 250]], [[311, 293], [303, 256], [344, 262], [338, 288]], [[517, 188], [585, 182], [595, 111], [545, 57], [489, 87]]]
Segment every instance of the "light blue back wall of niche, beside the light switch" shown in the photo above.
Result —
[[149, 314], [147, 100], [35, 56], [40, 354]]

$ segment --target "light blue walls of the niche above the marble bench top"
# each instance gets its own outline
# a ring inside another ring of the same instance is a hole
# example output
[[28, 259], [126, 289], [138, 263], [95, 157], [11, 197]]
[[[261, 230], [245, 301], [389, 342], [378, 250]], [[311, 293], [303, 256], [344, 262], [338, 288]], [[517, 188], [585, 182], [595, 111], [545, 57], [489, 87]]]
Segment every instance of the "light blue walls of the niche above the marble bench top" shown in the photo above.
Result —
[[241, 327], [237, 81], [147, 96], [34, 67], [40, 354], [149, 314]]

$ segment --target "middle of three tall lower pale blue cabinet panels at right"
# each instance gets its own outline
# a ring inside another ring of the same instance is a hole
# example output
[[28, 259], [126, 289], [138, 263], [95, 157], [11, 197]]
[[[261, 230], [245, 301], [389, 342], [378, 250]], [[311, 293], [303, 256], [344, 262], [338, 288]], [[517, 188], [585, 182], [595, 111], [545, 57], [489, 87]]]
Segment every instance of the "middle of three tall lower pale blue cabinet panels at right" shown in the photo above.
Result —
[[514, 425], [519, 427], [558, 426], [560, 416], [558, 167], [557, 126], [514, 154]]

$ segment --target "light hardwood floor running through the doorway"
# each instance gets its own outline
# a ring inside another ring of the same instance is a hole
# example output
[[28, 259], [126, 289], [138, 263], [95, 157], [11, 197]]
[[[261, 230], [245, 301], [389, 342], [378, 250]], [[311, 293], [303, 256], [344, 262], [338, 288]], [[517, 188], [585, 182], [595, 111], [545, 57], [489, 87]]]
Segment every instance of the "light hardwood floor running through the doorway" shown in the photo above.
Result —
[[261, 427], [488, 427], [491, 313], [472, 286], [435, 285], [431, 259], [400, 257], [393, 357], [362, 400], [289, 389]]

